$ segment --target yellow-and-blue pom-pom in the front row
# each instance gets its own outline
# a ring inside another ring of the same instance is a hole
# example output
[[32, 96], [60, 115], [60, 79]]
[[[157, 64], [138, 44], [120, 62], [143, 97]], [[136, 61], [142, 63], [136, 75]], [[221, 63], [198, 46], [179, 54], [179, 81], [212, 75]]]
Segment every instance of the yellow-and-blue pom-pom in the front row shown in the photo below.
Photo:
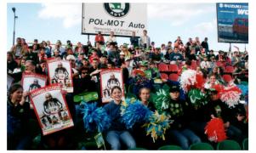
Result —
[[149, 122], [143, 125], [143, 127], [146, 127], [146, 135], [151, 135], [154, 143], [159, 137], [165, 140], [164, 134], [172, 122], [169, 118], [170, 116], [165, 116], [164, 114], [159, 115], [156, 111], [150, 116]]

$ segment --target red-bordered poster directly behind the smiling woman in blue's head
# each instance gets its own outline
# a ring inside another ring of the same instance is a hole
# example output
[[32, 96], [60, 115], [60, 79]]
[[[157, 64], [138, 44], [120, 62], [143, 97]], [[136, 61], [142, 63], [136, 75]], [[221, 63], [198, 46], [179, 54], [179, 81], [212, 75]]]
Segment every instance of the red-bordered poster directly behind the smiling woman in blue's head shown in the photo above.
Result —
[[100, 94], [102, 103], [108, 103], [111, 99], [111, 88], [118, 86], [122, 89], [124, 99], [124, 86], [121, 69], [105, 69], [100, 71]]

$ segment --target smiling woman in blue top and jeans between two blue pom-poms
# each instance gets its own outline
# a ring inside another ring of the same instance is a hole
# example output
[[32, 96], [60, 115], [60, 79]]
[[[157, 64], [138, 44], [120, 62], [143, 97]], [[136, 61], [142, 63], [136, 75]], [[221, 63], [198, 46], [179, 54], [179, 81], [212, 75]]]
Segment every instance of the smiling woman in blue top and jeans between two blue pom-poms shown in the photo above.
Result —
[[106, 113], [111, 117], [111, 127], [106, 133], [106, 141], [111, 144], [111, 150], [120, 150], [121, 141], [127, 145], [128, 149], [135, 148], [136, 143], [133, 136], [122, 123], [122, 89], [118, 86], [111, 88], [111, 97], [113, 100], [104, 107]]

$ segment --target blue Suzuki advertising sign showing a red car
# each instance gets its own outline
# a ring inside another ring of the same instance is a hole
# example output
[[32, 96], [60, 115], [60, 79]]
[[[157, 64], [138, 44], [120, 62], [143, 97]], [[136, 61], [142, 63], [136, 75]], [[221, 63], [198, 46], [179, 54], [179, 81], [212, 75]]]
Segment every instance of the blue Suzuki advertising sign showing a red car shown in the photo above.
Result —
[[248, 3], [217, 3], [218, 42], [248, 42]]

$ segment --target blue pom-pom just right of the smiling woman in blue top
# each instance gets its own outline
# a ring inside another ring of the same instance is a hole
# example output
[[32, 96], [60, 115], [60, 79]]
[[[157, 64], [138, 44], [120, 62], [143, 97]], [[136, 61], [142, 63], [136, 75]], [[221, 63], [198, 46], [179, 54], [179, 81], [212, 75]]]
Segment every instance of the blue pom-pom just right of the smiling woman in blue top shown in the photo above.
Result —
[[136, 122], [147, 122], [151, 114], [152, 112], [145, 105], [136, 101], [134, 104], [128, 105], [122, 113], [122, 122], [127, 128], [132, 128]]

